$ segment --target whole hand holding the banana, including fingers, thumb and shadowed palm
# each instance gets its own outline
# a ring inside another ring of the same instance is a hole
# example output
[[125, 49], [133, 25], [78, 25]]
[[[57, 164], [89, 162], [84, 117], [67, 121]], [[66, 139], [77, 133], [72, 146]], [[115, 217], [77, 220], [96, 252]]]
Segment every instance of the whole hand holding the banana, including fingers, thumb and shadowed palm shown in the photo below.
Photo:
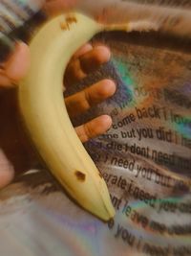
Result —
[[[49, 0], [45, 10], [53, 15], [58, 10], [72, 8], [74, 4], [72, 0]], [[64, 78], [65, 86], [72, 86], [75, 81], [84, 79], [110, 58], [111, 53], [107, 47], [87, 43], [71, 59]], [[1, 124], [4, 124], [0, 126], [0, 189], [7, 186], [15, 174], [29, 170], [32, 164], [37, 162], [28, 138], [18, 122], [19, 115], [15, 101], [15, 86], [25, 76], [29, 65], [30, 51], [23, 42], [17, 42], [11, 57], [0, 64], [0, 116]], [[111, 97], [115, 91], [114, 81], [103, 80], [66, 98], [65, 102], [71, 119]], [[102, 115], [75, 128], [75, 131], [80, 140], [86, 142], [104, 133], [111, 125], [111, 117]]]

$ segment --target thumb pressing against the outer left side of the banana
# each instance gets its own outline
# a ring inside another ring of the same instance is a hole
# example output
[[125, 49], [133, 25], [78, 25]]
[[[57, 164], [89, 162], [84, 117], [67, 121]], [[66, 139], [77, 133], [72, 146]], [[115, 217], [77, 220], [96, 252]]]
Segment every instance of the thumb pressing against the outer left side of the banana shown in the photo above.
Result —
[[0, 67], [0, 86], [11, 86], [12, 83], [24, 77], [30, 65], [30, 53], [28, 46], [19, 42], [15, 46], [14, 53]]

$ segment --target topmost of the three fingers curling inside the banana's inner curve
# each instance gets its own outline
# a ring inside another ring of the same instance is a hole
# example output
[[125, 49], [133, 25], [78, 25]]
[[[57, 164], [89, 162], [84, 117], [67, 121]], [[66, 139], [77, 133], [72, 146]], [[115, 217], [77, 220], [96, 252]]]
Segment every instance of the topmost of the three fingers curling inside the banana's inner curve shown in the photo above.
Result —
[[66, 86], [76, 81], [84, 79], [89, 73], [96, 69], [111, 58], [111, 52], [106, 46], [96, 46], [81, 50], [81, 53], [75, 55], [75, 58], [69, 63], [66, 69], [65, 83]]

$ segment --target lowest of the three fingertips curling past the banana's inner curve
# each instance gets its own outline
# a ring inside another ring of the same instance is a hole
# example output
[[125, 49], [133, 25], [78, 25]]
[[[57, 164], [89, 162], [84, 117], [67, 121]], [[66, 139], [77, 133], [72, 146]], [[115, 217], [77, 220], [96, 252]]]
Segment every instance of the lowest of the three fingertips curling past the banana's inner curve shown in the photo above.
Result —
[[112, 126], [112, 118], [108, 115], [99, 116], [92, 121], [75, 128], [75, 131], [82, 143], [92, 139]]

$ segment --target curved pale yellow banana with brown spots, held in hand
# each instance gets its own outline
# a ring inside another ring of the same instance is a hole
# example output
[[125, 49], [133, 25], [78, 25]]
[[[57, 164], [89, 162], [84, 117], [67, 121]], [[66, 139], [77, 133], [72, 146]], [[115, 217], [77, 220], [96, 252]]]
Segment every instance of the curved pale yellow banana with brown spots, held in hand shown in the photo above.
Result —
[[68, 194], [103, 221], [115, 216], [107, 185], [77, 137], [63, 100], [63, 76], [74, 52], [101, 31], [131, 31], [81, 14], [49, 20], [30, 43], [31, 66], [18, 86], [18, 102], [32, 142]]

